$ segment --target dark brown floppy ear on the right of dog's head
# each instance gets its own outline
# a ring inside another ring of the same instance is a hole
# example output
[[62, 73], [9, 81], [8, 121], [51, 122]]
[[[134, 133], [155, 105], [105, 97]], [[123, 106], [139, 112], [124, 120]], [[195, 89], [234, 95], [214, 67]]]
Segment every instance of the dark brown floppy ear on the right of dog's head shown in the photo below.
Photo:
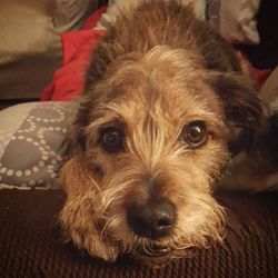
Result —
[[241, 72], [214, 72], [209, 82], [224, 105], [230, 127], [231, 155], [250, 149], [266, 122], [264, 105], [252, 80]]

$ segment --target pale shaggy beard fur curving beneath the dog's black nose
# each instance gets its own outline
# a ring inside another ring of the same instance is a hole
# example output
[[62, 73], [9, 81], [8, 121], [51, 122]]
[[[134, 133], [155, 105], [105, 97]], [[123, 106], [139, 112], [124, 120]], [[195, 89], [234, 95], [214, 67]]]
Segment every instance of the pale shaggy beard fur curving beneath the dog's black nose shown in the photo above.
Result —
[[[195, 248], [208, 248], [211, 244], [222, 240], [224, 209], [211, 197], [198, 196], [187, 209], [190, 214], [180, 210], [171, 235], [160, 240], [150, 240], [132, 232], [127, 226], [125, 210], [112, 216], [108, 214], [102, 235], [118, 242], [121, 252], [133, 255], [140, 252], [146, 257], [166, 256], [170, 259], [189, 257]], [[163, 248], [167, 252], [160, 254], [159, 248]]]

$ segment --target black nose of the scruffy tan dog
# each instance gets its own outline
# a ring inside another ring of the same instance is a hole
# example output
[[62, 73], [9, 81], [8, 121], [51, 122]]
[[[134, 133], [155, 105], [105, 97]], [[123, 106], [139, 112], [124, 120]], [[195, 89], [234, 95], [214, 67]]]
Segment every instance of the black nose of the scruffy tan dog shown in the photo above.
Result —
[[176, 219], [176, 208], [167, 200], [132, 205], [127, 214], [128, 224], [135, 234], [151, 239], [168, 236]]

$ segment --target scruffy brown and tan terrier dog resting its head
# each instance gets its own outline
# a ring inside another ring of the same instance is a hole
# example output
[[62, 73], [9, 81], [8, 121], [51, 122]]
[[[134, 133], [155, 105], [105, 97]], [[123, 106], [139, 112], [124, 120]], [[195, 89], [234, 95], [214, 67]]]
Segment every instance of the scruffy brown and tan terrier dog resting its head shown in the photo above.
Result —
[[61, 172], [66, 236], [93, 257], [159, 266], [222, 240], [212, 196], [264, 126], [236, 54], [190, 7], [143, 1], [99, 42]]

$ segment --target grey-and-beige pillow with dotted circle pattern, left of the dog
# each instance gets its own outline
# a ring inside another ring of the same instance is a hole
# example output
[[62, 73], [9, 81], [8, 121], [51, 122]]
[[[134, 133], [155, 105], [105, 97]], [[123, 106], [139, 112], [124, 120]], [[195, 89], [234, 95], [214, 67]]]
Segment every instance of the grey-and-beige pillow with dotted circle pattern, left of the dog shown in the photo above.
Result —
[[29, 102], [0, 111], [0, 188], [54, 188], [73, 111], [70, 102]]

